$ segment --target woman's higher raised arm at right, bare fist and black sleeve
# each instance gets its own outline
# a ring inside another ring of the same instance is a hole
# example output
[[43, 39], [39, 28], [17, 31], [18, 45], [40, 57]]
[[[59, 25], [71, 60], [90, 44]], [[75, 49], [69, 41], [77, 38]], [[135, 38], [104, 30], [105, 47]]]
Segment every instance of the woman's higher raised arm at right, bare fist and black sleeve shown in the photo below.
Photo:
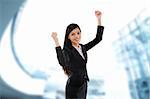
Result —
[[102, 40], [102, 36], [103, 36], [103, 31], [104, 31], [104, 27], [101, 26], [101, 16], [102, 13], [98, 10], [95, 11], [95, 16], [97, 18], [97, 34], [94, 40], [90, 41], [89, 43], [85, 44], [85, 48], [88, 51], [89, 49], [91, 49], [92, 47], [94, 47], [96, 44], [98, 44], [101, 40]]

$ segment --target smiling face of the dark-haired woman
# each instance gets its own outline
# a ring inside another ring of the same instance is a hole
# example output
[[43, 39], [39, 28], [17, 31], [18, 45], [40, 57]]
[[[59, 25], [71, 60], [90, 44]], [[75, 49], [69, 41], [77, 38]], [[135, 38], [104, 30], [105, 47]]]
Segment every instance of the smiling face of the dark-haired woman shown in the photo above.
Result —
[[72, 45], [78, 46], [81, 39], [81, 31], [79, 28], [75, 28], [71, 31], [68, 36], [68, 39], [71, 40]]

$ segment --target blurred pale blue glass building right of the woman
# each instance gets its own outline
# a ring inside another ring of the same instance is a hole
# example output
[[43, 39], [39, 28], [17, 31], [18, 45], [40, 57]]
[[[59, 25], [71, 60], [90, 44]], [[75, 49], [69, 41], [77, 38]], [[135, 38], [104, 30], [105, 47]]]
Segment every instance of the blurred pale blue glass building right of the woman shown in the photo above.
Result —
[[150, 99], [150, 11], [145, 9], [119, 31], [116, 56], [124, 66], [132, 99]]

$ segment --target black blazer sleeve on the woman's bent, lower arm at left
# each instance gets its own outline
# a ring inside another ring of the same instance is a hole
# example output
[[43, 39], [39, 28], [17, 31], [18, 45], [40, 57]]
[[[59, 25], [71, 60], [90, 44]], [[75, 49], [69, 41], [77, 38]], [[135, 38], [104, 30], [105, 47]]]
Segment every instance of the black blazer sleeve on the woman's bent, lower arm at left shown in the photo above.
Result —
[[57, 59], [58, 59], [59, 64], [63, 68], [69, 67], [69, 56], [65, 52], [65, 50], [62, 50], [60, 46], [56, 47], [56, 54], [57, 54]]

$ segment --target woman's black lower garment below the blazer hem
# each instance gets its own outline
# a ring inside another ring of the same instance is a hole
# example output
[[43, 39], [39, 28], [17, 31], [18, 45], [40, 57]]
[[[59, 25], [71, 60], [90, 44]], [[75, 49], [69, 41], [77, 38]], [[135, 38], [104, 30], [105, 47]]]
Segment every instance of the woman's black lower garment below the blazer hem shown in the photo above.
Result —
[[87, 86], [87, 81], [84, 81], [81, 86], [73, 86], [68, 79], [65, 92], [66, 99], [86, 99]]

